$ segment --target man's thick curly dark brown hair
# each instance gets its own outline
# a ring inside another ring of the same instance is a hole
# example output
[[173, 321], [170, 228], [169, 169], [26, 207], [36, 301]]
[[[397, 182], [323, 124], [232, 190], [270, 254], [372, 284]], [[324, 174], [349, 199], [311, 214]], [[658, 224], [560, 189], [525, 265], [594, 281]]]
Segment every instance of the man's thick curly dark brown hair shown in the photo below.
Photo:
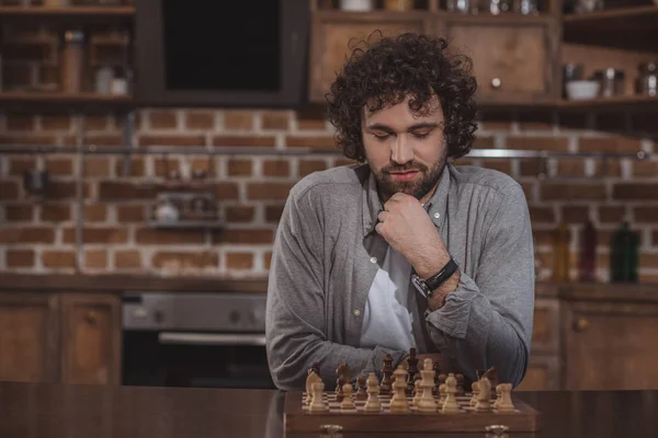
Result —
[[337, 146], [343, 154], [365, 161], [361, 123], [366, 104], [368, 111], [378, 111], [409, 95], [411, 111], [422, 113], [434, 94], [443, 110], [447, 157], [468, 153], [477, 129], [477, 82], [470, 58], [451, 54], [447, 42], [432, 35], [404, 33], [361, 43], [365, 47], [353, 49], [326, 96], [328, 118], [337, 128]]

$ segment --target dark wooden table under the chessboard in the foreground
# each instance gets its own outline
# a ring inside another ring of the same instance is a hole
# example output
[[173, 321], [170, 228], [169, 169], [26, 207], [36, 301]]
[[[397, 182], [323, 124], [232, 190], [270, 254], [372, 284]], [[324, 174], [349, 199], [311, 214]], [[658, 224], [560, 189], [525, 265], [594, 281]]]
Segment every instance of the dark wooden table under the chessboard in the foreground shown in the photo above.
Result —
[[[658, 391], [526, 392], [542, 431], [509, 437], [656, 437]], [[0, 382], [0, 437], [279, 438], [285, 393]], [[404, 434], [405, 437], [413, 434]], [[320, 437], [320, 434], [293, 435]], [[342, 434], [342, 437], [400, 434]], [[485, 437], [485, 434], [420, 434]]]

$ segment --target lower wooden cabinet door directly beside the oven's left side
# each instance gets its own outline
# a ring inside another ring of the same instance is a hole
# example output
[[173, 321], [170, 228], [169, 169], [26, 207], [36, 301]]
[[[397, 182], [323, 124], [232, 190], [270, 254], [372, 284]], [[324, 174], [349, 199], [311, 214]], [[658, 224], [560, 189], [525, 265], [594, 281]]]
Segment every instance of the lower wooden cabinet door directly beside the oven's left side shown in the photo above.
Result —
[[65, 383], [118, 384], [118, 297], [65, 293], [61, 296], [61, 380]]

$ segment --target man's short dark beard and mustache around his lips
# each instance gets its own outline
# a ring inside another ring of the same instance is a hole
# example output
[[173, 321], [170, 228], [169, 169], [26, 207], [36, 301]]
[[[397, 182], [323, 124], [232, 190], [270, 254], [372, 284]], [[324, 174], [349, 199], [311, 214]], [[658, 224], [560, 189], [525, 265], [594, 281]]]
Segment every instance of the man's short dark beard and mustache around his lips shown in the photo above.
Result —
[[[416, 161], [410, 161], [402, 165], [385, 165], [378, 172], [375, 172], [375, 180], [377, 181], [379, 196], [388, 199], [396, 193], [404, 193], [420, 200], [423, 196], [430, 193], [436, 183], [439, 183], [439, 180], [441, 180], [441, 175], [445, 169], [445, 161], [446, 157], [445, 153], [443, 153], [431, 168], [428, 168], [427, 165]], [[412, 181], [395, 181], [390, 175], [390, 172], [407, 171], [418, 171], [419, 175]]]

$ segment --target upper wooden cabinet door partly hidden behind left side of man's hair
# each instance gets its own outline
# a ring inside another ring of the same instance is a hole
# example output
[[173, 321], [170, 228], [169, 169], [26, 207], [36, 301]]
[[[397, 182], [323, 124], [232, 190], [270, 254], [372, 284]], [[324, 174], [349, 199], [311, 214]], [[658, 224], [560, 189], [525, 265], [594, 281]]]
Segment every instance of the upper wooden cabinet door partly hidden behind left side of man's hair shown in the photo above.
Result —
[[[310, 48], [309, 100], [325, 102], [325, 94], [341, 70], [353, 43], [376, 41], [405, 32], [430, 32], [428, 15], [419, 12], [315, 11]], [[371, 36], [368, 38], [368, 36]]]

